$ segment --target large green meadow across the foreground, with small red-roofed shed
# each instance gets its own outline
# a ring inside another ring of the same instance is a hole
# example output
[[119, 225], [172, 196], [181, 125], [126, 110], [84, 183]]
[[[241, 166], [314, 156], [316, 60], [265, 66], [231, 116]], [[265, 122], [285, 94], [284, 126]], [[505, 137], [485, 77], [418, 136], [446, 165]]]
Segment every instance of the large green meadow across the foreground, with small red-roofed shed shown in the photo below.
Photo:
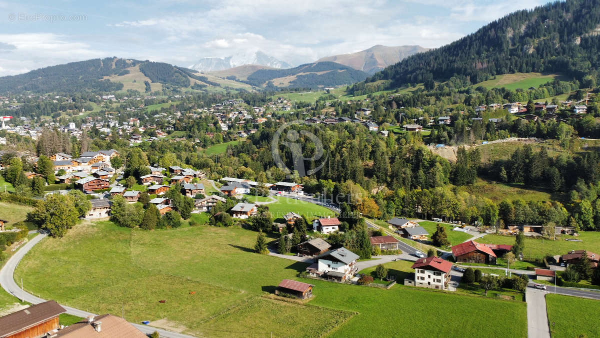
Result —
[[[238, 227], [144, 231], [107, 221], [80, 224], [62, 239], [44, 239], [15, 278], [68, 306], [115, 315], [124, 309], [128, 321], [166, 319], [198, 336], [527, 335], [524, 304], [404, 286], [302, 280], [315, 285], [307, 306], [266, 300], [259, 296], [307, 265], [253, 253], [255, 239], [256, 232]], [[452, 310], [423, 321], [431, 309]]]

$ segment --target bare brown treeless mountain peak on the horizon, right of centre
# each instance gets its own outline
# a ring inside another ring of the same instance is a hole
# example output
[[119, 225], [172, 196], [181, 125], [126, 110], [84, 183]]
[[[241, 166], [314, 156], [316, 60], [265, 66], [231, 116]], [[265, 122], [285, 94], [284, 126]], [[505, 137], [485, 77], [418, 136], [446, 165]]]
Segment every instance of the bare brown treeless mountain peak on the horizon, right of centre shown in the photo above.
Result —
[[331, 61], [373, 75], [391, 64], [398, 63], [398, 61], [410, 57], [410, 55], [427, 52], [428, 50], [429, 48], [423, 48], [421, 46], [389, 47], [376, 45], [356, 53], [320, 58], [316, 62]]

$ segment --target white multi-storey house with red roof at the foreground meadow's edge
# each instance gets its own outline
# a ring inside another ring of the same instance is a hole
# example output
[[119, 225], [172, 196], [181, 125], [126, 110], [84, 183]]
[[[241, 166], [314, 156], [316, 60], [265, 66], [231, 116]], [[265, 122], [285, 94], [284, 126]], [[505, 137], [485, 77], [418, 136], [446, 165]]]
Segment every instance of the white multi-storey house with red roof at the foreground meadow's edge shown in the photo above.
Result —
[[[415, 273], [404, 280], [404, 285], [428, 287], [429, 289], [446, 290], [450, 281], [452, 263], [440, 257], [418, 259], [411, 268]], [[412, 277], [412, 278], [411, 278]]]

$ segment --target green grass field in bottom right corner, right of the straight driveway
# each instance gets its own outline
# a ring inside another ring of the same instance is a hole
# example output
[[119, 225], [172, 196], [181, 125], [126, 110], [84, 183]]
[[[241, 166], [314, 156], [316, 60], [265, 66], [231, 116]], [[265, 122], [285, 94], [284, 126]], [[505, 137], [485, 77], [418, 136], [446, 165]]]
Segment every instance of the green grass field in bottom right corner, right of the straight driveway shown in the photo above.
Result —
[[600, 301], [548, 293], [546, 309], [551, 336], [600, 337]]

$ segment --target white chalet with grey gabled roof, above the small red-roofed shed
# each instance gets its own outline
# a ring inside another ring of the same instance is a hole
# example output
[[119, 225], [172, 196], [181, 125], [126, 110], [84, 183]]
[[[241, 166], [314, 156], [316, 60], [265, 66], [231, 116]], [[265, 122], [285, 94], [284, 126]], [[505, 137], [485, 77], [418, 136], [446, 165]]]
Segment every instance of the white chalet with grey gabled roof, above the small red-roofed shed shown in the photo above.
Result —
[[328, 278], [337, 281], [345, 281], [354, 277], [358, 268], [356, 260], [358, 254], [347, 248], [341, 247], [329, 250], [317, 257], [317, 263], [306, 268], [308, 274], [313, 277]]

